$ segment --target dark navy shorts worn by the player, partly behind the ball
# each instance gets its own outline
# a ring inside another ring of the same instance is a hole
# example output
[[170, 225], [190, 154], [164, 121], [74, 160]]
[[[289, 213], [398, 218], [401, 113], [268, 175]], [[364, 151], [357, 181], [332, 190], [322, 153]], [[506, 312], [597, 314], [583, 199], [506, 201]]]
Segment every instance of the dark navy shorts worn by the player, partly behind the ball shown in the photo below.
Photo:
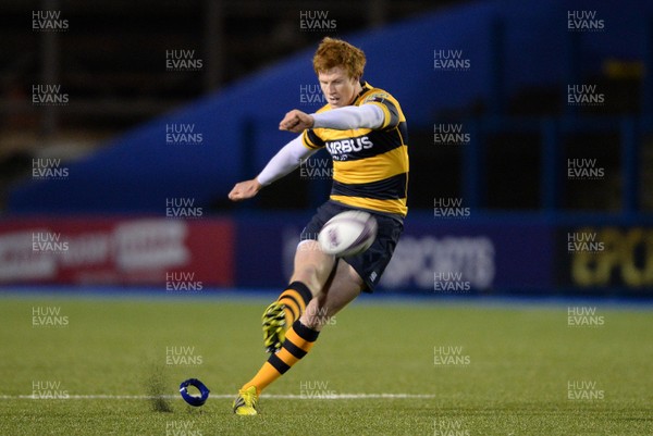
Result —
[[[318, 208], [317, 213], [308, 222], [307, 226], [301, 231], [300, 240], [306, 239], [318, 239], [320, 229], [329, 220], [341, 212], [357, 210], [345, 204], [337, 203], [335, 201], [326, 201], [324, 204]], [[371, 213], [377, 219], [378, 229], [377, 239], [372, 242], [370, 248], [360, 254], [342, 258], [347, 262], [354, 270], [360, 275], [365, 282], [362, 288], [366, 292], [372, 292], [374, 287], [381, 279], [385, 267], [392, 259], [392, 253], [399, 240], [399, 236], [404, 232], [404, 224], [402, 221], [374, 211], [365, 210]]]

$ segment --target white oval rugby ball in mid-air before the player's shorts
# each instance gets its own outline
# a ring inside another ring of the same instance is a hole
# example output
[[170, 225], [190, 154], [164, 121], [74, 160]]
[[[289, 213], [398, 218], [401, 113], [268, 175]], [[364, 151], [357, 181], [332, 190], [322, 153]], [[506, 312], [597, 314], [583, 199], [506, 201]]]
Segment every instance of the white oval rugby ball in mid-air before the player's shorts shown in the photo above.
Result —
[[377, 220], [362, 211], [346, 211], [333, 216], [318, 235], [320, 248], [338, 258], [359, 254], [377, 237]]

